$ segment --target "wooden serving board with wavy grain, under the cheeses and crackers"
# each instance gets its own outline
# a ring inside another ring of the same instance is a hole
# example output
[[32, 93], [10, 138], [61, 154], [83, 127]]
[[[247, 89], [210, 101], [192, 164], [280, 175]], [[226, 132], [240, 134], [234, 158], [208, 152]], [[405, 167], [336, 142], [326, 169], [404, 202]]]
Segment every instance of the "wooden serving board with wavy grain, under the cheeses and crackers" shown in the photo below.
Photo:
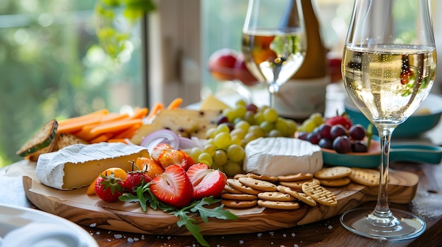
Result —
[[[419, 177], [410, 172], [390, 170], [388, 196], [393, 203], [410, 203], [417, 191]], [[31, 177], [23, 177], [23, 186], [28, 199], [41, 210], [59, 215], [77, 224], [95, 226], [122, 232], [160, 235], [189, 235], [185, 227], [177, 226], [177, 217], [149, 209], [143, 213], [138, 203], [106, 203], [97, 196], [87, 196], [86, 189], [60, 191], [52, 189]], [[230, 209], [239, 216], [238, 220], [209, 219], [204, 223], [195, 216], [203, 235], [239, 234], [264, 232], [302, 224], [309, 224], [340, 215], [367, 201], [376, 201], [378, 187], [367, 187], [351, 183], [331, 188], [338, 198], [336, 207], [316, 205], [311, 207], [300, 203], [297, 210], [273, 210], [251, 208]]]

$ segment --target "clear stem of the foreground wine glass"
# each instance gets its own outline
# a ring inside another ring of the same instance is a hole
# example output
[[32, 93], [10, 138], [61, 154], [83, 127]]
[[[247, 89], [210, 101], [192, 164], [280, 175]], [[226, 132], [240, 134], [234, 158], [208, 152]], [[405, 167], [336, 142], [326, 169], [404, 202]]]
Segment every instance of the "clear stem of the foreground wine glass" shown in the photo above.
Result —
[[381, 177], [379, 178], [378, 203], [374, 209], [373, 215], [377, 217], [393, 217], [388, 207], [388, 167], [390, 165], [390, 142], [391, 135], [395, 127], [378, 127], [378, 133], [381, 136], [381, 164], [379, 170]]

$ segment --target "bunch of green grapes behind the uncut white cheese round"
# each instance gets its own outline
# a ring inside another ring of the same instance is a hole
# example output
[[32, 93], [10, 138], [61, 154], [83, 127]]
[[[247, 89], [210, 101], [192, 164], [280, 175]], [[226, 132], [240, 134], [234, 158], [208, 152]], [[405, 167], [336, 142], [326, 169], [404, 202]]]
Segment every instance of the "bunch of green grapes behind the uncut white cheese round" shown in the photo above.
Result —
[[232, 177], [242, 171], [244, 148], [250, 141], [260, 137], [294, 137], [296, 131], [296, 122], [281, 118], [275, 109], [238, 101], [234, 108], [223, 111], [217, 127], [208, 129], [207, 144], [202, 149], [192, 148], [189, 155]]

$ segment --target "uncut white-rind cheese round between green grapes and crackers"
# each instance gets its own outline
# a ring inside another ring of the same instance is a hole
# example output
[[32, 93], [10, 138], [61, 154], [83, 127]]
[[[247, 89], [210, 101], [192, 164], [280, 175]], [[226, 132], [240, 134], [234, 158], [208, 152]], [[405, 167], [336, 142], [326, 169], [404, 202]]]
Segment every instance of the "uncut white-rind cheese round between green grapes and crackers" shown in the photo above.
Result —
[[246, 145], [244, 170], [258, 175], [281, 176], [314, 173], [323, 167], [321, 147], [288, 137], [266, 137]]

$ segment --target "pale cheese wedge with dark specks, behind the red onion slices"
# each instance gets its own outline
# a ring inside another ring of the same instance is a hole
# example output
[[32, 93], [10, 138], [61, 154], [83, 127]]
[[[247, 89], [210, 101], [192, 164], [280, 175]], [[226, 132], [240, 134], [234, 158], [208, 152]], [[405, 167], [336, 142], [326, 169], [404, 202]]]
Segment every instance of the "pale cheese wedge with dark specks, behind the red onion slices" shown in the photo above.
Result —
[[170, 129], [181, 137], [206, 139], [207, 130], [217, 127], [220, 115], [221, 110], [163, 109], [151, 123], [141, 125], [131, 142], [139, 145], [150, 133], [160, 129]]

